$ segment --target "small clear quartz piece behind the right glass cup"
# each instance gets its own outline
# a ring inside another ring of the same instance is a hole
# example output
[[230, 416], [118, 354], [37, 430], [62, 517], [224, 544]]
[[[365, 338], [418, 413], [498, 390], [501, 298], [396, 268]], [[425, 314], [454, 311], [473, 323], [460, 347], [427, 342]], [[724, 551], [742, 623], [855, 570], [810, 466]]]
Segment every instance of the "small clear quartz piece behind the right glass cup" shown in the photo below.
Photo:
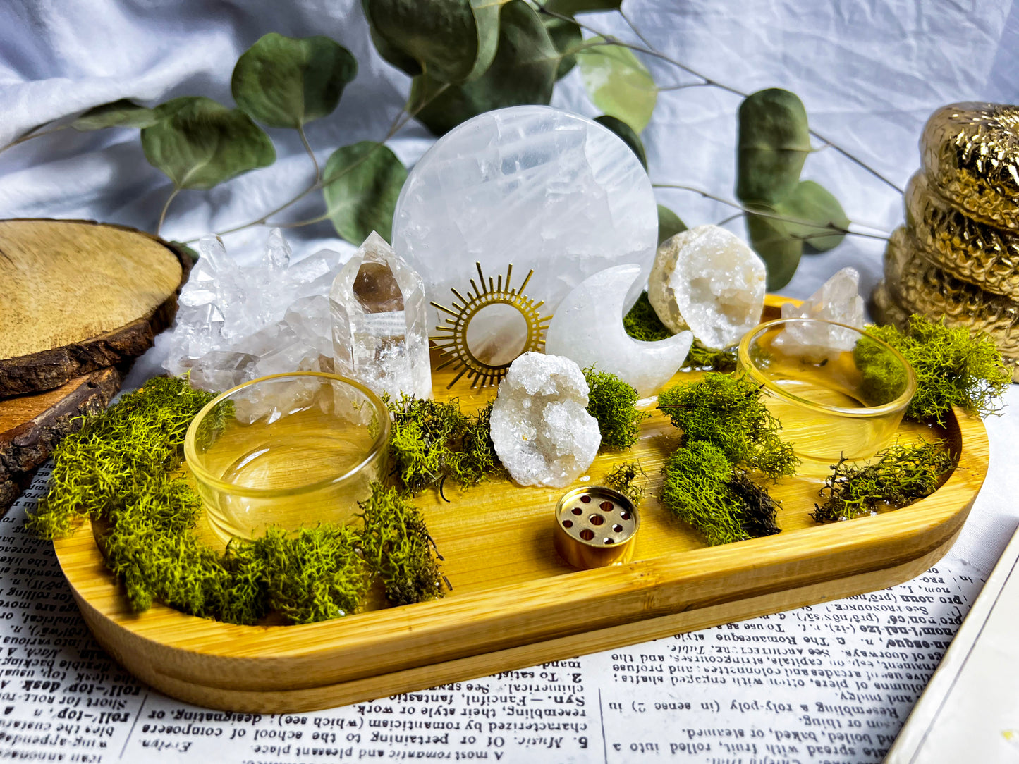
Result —
[[[863, 297], [860, 274], [855, 268], [843, 268], [800, 306], [786, 303], [783, 318], [809, 318], [835, 321], [863, 328]], [[786, 326], [775, 340], [787, 349], [796, 349], [811, 359], [828, 358], [833, 352], [852, 350], [860, 335], [839, 326], [794, 323]]]

